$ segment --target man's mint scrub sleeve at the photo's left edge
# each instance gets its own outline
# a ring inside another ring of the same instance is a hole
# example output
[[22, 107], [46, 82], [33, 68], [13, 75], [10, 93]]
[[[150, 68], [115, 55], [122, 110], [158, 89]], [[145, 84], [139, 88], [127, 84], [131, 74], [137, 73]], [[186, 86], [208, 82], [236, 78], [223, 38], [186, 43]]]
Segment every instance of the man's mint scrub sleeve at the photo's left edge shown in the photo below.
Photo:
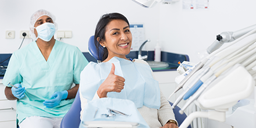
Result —
[[8, 83], [14, 85], [22, 82], [22, 76], [20, 75], [19, 67], [19, 61], [15, 53], [13, 53], [12, 56], [10, 57], [10, 61], [5, 72], [5, 76], [3, 76], [3, 85], [7, 87], [12, 87], [8, 86]]

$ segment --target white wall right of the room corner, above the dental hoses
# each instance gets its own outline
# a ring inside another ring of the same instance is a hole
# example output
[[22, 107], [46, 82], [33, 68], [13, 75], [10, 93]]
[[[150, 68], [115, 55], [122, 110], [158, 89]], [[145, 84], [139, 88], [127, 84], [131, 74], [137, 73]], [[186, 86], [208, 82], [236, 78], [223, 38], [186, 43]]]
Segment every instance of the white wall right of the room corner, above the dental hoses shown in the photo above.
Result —
[[187, 54], [199, 62], [203, 51], [224, 31], [237, 31], [256, 24], [255, 0], [209, 0], [209, 9], [183, 10], [182, 0], [160, 5], [162, 51]]

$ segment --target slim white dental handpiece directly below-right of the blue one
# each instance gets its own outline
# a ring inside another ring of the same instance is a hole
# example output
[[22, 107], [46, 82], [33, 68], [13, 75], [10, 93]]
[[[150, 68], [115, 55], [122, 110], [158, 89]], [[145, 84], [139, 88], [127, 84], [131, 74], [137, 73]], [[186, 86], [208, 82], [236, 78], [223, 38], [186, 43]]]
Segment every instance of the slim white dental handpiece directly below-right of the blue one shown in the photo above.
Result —
[[202, 92], [205, 90], [205, 88], [207, 88], [209, 86], [209, 84], [212, 83], [212, 81], [214, 81], [216, 79], [216, 76], [213, 75], [210, 79], [208, 79], [204, 84], [202, 84], [202, 86], [198, 89], [198, 91], [193, 94], [189, 101], [186, 102], [186, 104], [183, 106], [182, 109], [180, 109], [179, 113], [180, 114], [183, 114], [184, 113], [184, 110], [192, 103], [195, 101], [195, 99], [197, 99], [201, 94]]

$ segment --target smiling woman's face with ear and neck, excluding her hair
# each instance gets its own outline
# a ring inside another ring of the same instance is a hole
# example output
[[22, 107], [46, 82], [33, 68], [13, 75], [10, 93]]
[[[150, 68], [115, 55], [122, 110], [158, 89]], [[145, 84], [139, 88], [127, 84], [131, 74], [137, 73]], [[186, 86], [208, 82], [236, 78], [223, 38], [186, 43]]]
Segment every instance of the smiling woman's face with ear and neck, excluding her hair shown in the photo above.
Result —
[[130, 27], [124, 20], [116, 19], [108, 23], [105, 29], [105, 40], [100, 44], [108, 49], [108, 58], [114, 56], [125, 58], [130, 53], [131, 41]]

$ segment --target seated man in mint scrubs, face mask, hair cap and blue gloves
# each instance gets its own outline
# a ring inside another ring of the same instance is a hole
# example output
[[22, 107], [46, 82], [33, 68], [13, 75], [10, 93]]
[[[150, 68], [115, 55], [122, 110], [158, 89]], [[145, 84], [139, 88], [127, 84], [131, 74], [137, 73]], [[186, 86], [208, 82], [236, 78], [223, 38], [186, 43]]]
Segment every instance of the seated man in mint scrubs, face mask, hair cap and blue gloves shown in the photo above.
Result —
[[35, 12], [30, 21], [35, 41], [13, 52], [3, 77], [6, 98], [17, 99], [20, 128], [60, 127], [88, 64], [79, 48], [54, 39], [56, 27], [54, 15]]

